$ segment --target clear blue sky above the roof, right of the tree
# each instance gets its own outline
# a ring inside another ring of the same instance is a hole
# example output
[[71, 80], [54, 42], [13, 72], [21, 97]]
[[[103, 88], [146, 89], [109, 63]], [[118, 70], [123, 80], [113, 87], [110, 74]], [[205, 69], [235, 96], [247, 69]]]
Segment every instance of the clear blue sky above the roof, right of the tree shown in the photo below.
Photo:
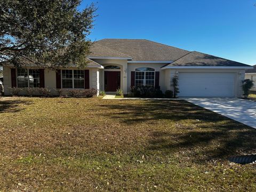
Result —
[[92, 2], [92, 41], [144, 38], [256, 64], [256, 0], [84, 0], [81, 8]]

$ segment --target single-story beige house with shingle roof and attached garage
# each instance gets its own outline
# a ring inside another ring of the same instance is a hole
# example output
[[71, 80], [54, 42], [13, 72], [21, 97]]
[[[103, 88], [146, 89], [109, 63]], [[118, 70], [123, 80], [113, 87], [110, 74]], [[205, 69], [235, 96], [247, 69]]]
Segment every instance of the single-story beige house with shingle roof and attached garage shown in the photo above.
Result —
[[241, 97], [243, 63], [190, 52], [146, 39], [102, 39], [91, 47], [84, 69], [4, 66], [7, 87], [48, 87], [49, 89], [88, 89], [124, 94], [131, 86], [151, 86], [163, 92], [172, 90], [172, 77], [179, 77], [179, 97]]

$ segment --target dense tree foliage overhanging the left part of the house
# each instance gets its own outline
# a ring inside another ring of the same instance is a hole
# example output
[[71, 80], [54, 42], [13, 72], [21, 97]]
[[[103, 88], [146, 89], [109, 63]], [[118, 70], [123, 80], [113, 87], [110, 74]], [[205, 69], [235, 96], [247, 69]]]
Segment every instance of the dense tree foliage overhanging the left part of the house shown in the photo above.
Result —
[[94, 4], [81, 0], [1, 0], [0, 64], [86, 65]]

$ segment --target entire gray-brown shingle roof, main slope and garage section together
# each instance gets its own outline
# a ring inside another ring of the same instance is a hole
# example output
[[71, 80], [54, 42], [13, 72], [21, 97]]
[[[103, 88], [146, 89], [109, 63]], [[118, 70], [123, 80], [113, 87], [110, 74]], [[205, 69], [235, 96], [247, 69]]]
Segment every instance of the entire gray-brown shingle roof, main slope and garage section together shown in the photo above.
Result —
[[[147, 39], [102, 39], [91, 47], [91, 57], [122, 57], [133, 61], [174, 61], [165, 66], [249, 67], [244, 63], [190, 52]], [[163, 67], [165, 67], [163, 66]]]

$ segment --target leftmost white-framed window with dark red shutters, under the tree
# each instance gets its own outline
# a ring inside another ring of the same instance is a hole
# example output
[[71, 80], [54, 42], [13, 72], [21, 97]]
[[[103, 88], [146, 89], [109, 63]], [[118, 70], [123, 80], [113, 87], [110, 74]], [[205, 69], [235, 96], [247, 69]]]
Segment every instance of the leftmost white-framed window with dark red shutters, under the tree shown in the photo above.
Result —
[[18, 87], [40, 87], [39, 69], [18, 68]]

